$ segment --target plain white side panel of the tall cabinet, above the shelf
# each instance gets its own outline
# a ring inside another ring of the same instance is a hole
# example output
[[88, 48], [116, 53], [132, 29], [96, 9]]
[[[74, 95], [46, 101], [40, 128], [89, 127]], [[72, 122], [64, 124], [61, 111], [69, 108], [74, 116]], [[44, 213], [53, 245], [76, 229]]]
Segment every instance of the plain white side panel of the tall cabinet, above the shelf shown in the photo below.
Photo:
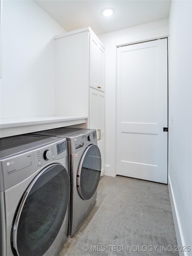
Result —
[[55, 37], [55, 114], [88, 116], [88, 32]]

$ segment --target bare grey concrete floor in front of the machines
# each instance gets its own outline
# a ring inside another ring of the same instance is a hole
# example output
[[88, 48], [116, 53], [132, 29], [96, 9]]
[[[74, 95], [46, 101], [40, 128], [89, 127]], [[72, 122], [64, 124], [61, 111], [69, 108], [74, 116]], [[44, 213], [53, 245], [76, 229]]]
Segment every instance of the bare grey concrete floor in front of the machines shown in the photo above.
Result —
[[176, 245], [167, 185], [103, 176], [93, 209], [59, 256], [178, 256]]

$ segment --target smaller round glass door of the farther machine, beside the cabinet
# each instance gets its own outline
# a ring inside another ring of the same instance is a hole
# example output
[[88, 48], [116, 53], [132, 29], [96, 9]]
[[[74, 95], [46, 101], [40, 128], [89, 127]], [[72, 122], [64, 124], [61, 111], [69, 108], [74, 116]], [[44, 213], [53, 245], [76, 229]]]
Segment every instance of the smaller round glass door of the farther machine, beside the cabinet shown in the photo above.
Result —
[[101, 176], [101, 152], [96, 145], [85, 150], [78, 170], [77, 188], [84, 200], [90, 199], [97, 190]]

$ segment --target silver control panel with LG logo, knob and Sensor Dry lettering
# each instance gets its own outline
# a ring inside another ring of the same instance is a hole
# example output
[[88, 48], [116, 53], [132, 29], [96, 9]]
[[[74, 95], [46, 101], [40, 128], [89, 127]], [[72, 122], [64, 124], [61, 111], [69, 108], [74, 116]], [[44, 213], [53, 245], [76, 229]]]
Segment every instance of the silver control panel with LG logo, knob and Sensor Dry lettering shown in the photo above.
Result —
[[7, 157], [0, 159], [0, 191], [5, 191], [22, 182], [37, 170], [55, 160], [67, 158], [65, 138], [56, 138], [55, 141], [52, 139], [51, 142], [51, 139], [47, 140], [49, 142], [46, 141], [43, 146], [29, 143], [25, 147], [16, 147], [15, 150], [10, 151], [10, 155], [7, 153]]

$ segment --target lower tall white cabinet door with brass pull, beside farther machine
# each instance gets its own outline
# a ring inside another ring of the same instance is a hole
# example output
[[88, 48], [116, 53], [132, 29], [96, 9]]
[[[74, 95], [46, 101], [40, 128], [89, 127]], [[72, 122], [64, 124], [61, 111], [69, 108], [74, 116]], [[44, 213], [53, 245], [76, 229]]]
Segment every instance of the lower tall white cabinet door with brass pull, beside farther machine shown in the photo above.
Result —
[[105, 166], [104, 111], [104, 92], [90, 88], [89, 128], [97, 130], [98, 147], [101, 152], [101, 175], [104, 173]]

